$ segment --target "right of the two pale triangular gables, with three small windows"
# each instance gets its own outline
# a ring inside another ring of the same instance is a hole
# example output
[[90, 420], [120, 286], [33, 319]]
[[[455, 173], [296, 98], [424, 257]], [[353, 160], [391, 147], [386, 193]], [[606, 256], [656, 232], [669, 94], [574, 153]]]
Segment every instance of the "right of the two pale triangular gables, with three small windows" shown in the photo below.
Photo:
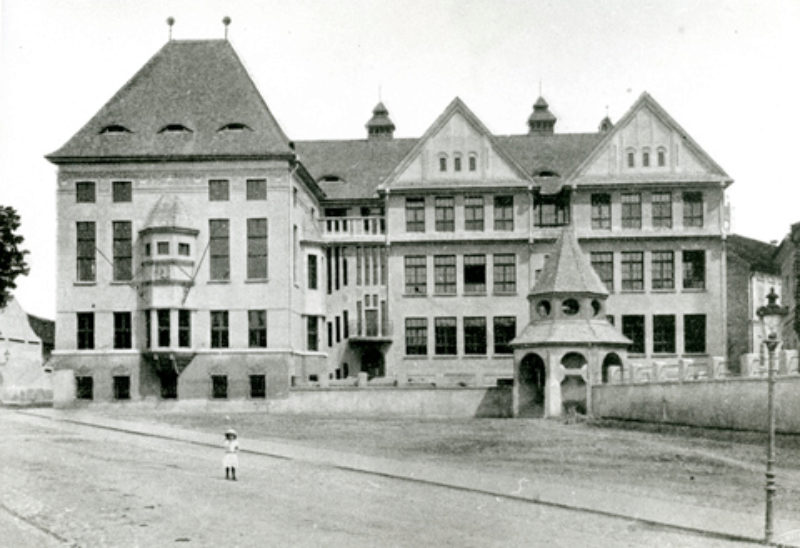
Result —
[[[629, 153], [633, 154], [632, 166]], [[662, 158], [664, 165], [660, 165]], [[604, 179], [731, 182], [725, 170], [647, 92], [605, 134], [570, 179], [576, 184]]]

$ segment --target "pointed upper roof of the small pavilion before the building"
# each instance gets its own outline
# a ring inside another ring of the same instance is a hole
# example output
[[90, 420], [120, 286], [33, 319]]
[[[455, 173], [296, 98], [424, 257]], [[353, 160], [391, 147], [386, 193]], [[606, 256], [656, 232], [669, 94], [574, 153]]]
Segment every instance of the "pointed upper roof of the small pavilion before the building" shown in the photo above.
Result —
[[553, 294], [608, 296], [589, 258], [581, 251], [572, 227], [566, 227], [556, 240], [553, 252], [544, 263], [542, 273], [529, 295]]

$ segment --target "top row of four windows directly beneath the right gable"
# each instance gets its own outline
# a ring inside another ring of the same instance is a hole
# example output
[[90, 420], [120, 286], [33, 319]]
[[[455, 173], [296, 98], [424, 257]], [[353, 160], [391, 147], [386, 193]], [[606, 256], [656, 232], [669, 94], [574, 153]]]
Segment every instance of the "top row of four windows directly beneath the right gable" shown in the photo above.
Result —
[[[684, 192], [683, 226], [703, 226], [703, 193]], [[611, 230], [611, 195], [592, 194], [592, 228]], [[642, 228], [642, 195], [639, 192], [624, 192], [621, 197], [622, 228]], [[672, 228], [672, 192], [659, 191], [651, 194], [651, 222], [654, 228]]]

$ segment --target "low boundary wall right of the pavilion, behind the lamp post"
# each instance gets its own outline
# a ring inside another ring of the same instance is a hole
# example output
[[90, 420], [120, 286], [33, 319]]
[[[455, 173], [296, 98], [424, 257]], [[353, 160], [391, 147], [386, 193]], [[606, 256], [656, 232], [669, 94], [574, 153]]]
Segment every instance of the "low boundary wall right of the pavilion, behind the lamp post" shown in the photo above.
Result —
[[[800, 433], [800, 376], [777, 377], [776, 428]], [[732, 428], [767, 429], [767, 379], [605, 384], [592, 387], [599, 418]]]

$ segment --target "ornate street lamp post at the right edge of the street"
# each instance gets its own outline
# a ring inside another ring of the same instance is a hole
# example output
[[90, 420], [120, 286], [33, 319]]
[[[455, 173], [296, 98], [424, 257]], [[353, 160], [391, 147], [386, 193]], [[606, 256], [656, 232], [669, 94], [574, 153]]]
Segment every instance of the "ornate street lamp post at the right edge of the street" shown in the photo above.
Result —
[[761, 327], [764, 334], [764, 344], [767, 346], [768, 370], [767, 370], [767, 416], [768, 416], [768, 437], [767, 442], [767, 485], [766, 485], [766, 509], [764, 516], [764, 540], [769, 543], [772, 541], [774, 515], [772, 504], [775, 498], [775, 349], [780, 342], [779, 331], [781, 318], [788, 311], [785, 306], [779, 306], [776, 301], [778, 295], [775, 288], [771, 288], [767, 295], [767, 305], [758, 309], [756, 314], [761, 319]]

